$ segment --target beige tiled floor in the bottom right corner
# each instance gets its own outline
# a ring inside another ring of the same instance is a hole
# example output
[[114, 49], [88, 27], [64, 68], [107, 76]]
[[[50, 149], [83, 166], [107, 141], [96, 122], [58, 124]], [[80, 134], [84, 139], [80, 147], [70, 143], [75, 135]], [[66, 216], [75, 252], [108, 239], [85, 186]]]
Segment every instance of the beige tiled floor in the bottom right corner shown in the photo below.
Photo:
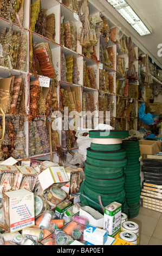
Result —
[[140, 207], [139, 215], [131, 219], [139, 225], [139, 245], [162, 245], [162, 214]]

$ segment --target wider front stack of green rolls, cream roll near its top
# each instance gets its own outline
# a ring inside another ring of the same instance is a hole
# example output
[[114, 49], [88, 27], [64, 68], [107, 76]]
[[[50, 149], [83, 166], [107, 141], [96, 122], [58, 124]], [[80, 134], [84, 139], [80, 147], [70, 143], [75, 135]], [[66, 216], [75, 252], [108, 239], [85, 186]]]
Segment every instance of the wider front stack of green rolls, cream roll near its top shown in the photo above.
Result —
[[[99, 196], [105, 207], [112, 202], [126, 204], [125, 173], [127, 164], [126, 150], [122, 149], [122, 138], [128, 137], [128, 131], [89, 131], [90, 138], [113, 139], [121, 138], [119, 144], [90, 144], [87, 148], [85, 161], [86, 179], [80, 187], [81, 203], [102, 212]], [[112, 143], [112, 141], [111, 141]], [[124, 211], [124, 209], [122, 209]]]

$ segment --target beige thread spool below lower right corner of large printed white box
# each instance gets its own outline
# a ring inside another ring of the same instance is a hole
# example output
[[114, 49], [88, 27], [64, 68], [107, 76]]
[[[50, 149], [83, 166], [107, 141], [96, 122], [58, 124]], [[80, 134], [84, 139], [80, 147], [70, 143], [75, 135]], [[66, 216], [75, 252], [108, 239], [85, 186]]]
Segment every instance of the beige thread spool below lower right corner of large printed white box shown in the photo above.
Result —
[[40, 242], [43, 239], [43, 230], [37, 228], [23, 228], [22, 236]]

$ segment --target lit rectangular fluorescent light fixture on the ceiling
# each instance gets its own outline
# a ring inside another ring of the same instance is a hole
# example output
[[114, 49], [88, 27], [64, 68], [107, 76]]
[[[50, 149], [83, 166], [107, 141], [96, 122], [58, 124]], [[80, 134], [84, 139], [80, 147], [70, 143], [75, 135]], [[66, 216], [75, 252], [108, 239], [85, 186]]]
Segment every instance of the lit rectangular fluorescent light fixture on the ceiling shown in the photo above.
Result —
[[151, 34], [134, 10], [125, 0], [107, 0], [118, 13], [137, 31], [141, 36]]

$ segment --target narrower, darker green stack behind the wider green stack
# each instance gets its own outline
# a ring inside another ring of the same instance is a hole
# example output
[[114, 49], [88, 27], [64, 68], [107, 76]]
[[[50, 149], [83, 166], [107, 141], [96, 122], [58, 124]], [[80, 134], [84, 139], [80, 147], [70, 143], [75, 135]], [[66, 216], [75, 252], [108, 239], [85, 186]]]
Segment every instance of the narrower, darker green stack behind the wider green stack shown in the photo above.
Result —
[[128, 218], [134, 218], [139, 214], [140, 208], [140, 149], [139, 141], [124, 139], [122, 148], [127, 153], [127, 165], [124, 173], [126, 175], [125, 191], [128, 204]]

